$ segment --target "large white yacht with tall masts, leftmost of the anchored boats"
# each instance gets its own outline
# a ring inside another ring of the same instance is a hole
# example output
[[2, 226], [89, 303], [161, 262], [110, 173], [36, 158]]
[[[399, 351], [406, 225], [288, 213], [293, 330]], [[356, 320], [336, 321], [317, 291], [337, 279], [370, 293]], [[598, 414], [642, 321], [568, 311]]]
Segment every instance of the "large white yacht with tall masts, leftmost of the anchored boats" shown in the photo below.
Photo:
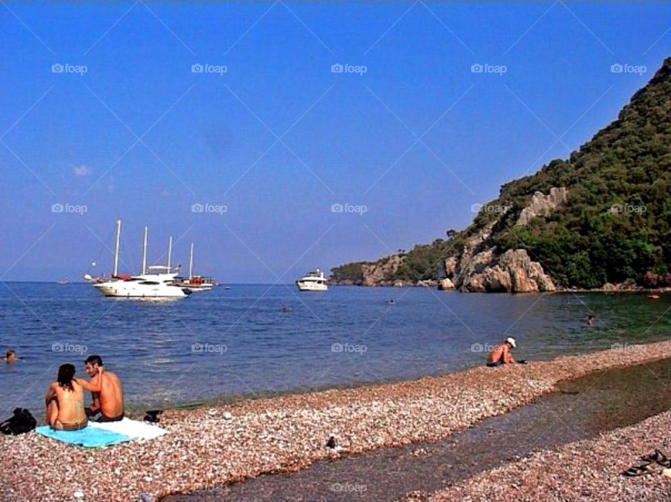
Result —
[[[142, 246], [142, 273], [134, 276], [119, 275], [119, 244], [121, 239], [121, 220], [117, 220], [114, 238], [114, 267], [110, 278], [93, 278], [85, 274], [84, 279], [103, 295], [122, 298], [183, 298], [191, 291], [175, 285], [177, 272], [171, 272], [170, 258], [172, 237], [168, 241], [168, 265], [147, 267], [147, 227], [145, 227]], [[147, 270], [149, 272], [147, 272]]]

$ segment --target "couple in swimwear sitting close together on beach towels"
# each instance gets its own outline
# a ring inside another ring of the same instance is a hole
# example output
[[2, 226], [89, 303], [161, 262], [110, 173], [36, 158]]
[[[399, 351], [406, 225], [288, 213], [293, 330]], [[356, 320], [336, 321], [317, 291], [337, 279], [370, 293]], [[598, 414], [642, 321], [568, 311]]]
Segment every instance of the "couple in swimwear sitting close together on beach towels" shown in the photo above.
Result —
[[[124, 418], [124, 394], [119, 378], [104, 371], [99, 355], [87, 357], [85, 371], [89, 381], [75, 377], [73, 364], [62, 364], [58, 377], [45, 396], [47, 423], [52, 429], [76, 431], [96, 422], [117, 422]], [[93, 403], [84, 407], [84, 390], [91, 392]]]

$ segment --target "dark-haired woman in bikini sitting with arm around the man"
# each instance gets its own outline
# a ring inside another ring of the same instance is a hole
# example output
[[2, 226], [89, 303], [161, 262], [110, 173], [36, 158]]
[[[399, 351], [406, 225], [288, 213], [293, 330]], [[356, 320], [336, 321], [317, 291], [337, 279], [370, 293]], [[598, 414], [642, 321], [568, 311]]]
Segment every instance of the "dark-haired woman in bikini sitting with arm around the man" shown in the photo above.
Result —
[[84, 411], [84, 389], [100, 390], [80, 378], [75, 378], [75, 367], [62, 364], [58, 376], [44, 397], [47, 423], [59, 431], [78, 431], [88, 425]]

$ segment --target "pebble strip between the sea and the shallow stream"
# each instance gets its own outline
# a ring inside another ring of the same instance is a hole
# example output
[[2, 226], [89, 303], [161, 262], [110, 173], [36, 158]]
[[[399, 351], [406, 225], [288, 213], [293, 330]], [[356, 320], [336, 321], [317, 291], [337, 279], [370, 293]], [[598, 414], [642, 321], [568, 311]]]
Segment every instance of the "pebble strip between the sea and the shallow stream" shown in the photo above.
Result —
[[[160, 415], [159, 423], [170, 434], [103, 450], [36, 434], [5, 436], [0, 477], [7, 478], [0, 495], [61, 500], [82, 492], [85, 499], [127, 500], [141, 492], [165, 496], [215, 489], [336, 459], [339, 452], [324, 448], [330, 434], [348, 454], [435, 441], [553, 392], [559, 381], [669, 357], [671, 341], [662, 341], [632, 352], [601, 350], [413, 381], [173, 409]], [[63, 466], [54, 458], [71, 463]], [[95, 485], [87, 482], [92, 475]]]

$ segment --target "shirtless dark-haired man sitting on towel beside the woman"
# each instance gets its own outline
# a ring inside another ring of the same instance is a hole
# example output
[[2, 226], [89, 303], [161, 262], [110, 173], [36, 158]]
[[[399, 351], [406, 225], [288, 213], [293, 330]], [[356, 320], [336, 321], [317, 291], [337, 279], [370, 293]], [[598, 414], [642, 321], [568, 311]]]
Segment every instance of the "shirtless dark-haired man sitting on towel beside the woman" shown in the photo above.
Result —
[[103, 360], [99, 355], [90, 355], [84, 362], [89, 384], [100, 387], [92, 390], [93, 402], [87, 406], [86, 415], [96, 422], [118, 422], [124, 418], [124, 391], [119, 377], [111, 371], [103, 371]]

